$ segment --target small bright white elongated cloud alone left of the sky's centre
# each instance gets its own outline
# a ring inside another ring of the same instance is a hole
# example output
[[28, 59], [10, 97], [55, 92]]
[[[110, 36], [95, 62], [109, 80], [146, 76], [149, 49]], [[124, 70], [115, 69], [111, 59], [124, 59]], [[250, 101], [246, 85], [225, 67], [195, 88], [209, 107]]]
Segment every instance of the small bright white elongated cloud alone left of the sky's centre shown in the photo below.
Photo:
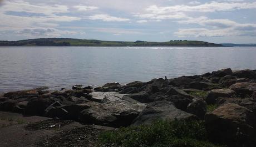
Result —
[[108, 14], [95, 14], [93, 16], [85, 17], [90, 20], [100, 20], [104, 22], [127, 22], [130, 21], [128, 18], [109, 16]]

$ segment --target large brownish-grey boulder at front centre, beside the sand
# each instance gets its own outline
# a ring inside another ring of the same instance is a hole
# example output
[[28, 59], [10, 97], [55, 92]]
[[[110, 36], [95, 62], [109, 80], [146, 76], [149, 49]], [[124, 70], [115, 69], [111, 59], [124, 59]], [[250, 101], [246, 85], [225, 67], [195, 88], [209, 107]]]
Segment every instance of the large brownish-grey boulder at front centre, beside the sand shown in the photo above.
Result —
[[145, 108], [144, 104], [125, 100], [107, 103], [89, 102], [87, 104], [90, 105], [90, 108], [82, 110], [79, 116], [82, 123], [114, 127], [130, 125]]

